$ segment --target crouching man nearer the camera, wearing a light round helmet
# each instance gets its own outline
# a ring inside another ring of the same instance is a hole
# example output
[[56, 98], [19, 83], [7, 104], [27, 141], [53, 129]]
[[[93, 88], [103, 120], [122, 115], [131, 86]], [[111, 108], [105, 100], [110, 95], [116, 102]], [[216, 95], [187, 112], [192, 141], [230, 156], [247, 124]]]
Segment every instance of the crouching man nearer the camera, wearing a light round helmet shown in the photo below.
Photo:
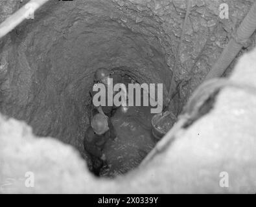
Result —
[[100, 168], [106, 164], [106, 155], [102, 153], [102, 149], [108, 140], [114, 140], [115, 137], [115, 129], [110, 118], [101, 113], [95, 114], [84, 136], [84, 149], [91, 155], [96, 175], [99, 175]]

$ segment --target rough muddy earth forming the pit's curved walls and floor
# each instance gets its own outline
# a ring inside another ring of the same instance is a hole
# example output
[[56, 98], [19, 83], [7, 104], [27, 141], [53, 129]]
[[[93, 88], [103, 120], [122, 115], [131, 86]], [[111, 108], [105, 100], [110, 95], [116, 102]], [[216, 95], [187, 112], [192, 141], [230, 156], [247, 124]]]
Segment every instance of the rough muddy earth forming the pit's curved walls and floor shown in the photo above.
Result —
[[[2, 0], [0, 21], [27, 2]], [[229, 5], [228, 19], [219, 16], [222, 3]], [[91, 168], [83, 139], [95, 71], [106, 67], [138, 83], [163, 83], [164, 104], [174, 76], [174, 85], [183, 83], [169, 105], [178, 115], [252, 3], [194, 0], [182, 32], [185, 0], [49, 1], [34, 19], [0, 39], [0, 112], [25, 121], [34, 135], [75, 147]], [[254, 45], [255, 35], [239, 56]], [[102, 177], [135, 169], [155, 146], [149, 109], [130, 107], [123, 113], [119, 108], [111, 117], [117, 138], [104, 147], [109, 168], [102, 169]], [[173, 123], [164, 124], [168, 131]]]

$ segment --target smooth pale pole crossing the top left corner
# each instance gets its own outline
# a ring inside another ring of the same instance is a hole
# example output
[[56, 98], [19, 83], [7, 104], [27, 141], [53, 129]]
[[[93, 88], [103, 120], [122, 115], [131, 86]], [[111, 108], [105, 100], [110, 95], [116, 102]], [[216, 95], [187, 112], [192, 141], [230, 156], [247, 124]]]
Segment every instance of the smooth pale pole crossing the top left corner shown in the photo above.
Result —
[[0, 39], [16, 28], [23, 20], [27, 19], [30, 14], [34, 14], [34, 12], [47, 1], [49, 0], [31, 0], [10, 17], [6, 18], [0, 25]]

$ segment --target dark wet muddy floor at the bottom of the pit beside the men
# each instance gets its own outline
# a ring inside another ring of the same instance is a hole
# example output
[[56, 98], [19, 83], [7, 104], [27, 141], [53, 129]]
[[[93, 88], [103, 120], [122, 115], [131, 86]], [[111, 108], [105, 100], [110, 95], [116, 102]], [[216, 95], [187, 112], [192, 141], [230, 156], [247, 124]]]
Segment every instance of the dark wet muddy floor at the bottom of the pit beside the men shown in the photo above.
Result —
[[[120, 74], [120, 76], [122, 77], [121, 83], [126, 85], [127, 90], [128, 83], [139, 83], [128, 74]], [[143, 158], [155, 146], [157, 140], [151, 133], [151, 120], [154, 114], [150, 113], [150, 105], [143, 106], [142, 96], [143, 89], [141, 89], [140, 97], [141, 106], [120, 106], [111, 110], [109, 120], [113, 124], [116, 136], [114, 139], [108, 138], [101, 146], [100, 151], [106, 160], [90, 153], [91, 149], [87, 150], [91, 157], [93, 166], [91, 171], [94, 175], [99, 177], [122, 175], [139, 166]]]

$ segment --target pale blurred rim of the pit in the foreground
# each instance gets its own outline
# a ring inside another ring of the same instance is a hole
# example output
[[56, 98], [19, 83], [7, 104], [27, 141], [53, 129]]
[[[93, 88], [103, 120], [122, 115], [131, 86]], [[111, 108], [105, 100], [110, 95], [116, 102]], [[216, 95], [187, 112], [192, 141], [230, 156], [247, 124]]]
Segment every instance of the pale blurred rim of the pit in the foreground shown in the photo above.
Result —
[[[255, 55], [242, 57], [231, 80], [256, 87]], [[24, 122], [1, 115], [1, 193], [255, 193], [255, 106], [255, 94], [226, 87], [214, 109], [181, 129], [163, 153], [113, 180], [93, 177], [70, 145], [38, 138]], [[25, 186], [27, 171], [34, 173], [33, 188]]]

